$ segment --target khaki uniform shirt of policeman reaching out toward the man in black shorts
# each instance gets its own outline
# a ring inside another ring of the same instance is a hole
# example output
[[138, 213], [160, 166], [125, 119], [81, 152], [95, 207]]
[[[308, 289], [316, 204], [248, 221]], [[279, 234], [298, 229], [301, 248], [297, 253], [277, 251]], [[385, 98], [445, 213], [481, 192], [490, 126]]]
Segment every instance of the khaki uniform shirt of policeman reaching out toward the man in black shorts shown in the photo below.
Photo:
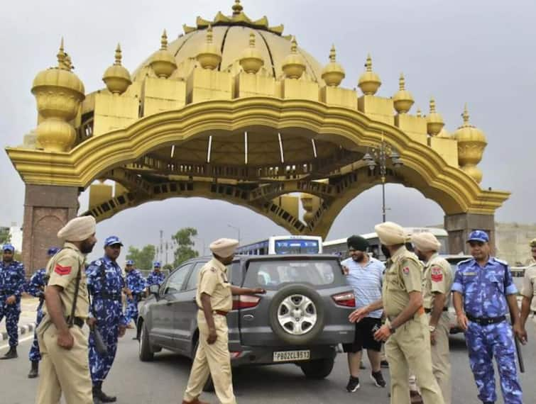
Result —
[[415, 254], [400, 247], [385, 267], [383, 309], [393, 318], [410, 303], [410, 292], [422, 292], [422, 264]]

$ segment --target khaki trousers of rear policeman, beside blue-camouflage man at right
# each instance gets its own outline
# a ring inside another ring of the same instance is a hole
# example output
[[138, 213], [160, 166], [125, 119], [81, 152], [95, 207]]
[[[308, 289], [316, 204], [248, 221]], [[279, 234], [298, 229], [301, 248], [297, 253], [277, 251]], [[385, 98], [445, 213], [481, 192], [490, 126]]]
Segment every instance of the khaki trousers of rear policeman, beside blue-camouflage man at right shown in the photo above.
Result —
[[[428, 315], [428, 319], [430, 320], [430, 315]], [[432, 345], [432, 369], [445, 404], [452, 403], [449, 331], [449, 314], [443, 312], [435, 329], [435, 345]]]

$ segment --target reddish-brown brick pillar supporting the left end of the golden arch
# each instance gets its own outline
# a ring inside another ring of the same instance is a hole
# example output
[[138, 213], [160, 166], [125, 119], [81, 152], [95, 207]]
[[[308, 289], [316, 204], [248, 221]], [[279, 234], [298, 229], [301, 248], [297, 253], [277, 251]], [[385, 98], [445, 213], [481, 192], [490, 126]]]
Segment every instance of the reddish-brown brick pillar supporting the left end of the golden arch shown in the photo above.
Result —
[[61, 247], [56, 233], [77, 212], [77, 187], [26, 185], [22, 259], [27, 276], [45, 266], [49, 247]]

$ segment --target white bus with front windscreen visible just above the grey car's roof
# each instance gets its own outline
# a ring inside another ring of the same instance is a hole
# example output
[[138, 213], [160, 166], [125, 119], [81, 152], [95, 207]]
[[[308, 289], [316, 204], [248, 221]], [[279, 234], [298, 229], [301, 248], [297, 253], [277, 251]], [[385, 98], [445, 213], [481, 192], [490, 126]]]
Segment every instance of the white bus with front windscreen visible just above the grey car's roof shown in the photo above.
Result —
[[266, 240], [241, 245], [236, 249], [236, 254], [322, 254], [322, 237], [302, 235], [272, 236]]

